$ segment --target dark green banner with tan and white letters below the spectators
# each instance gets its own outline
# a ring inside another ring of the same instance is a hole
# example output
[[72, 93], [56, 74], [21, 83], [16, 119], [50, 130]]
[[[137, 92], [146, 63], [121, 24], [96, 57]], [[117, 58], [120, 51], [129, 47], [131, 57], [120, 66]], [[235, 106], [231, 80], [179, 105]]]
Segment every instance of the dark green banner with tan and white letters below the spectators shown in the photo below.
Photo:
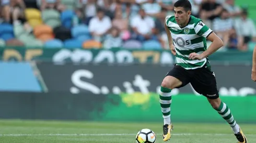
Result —
[[[211, 61], [251, 62], [252, 52], [216, 52]], [[143, 49], [64, 49], [64, 48], [0, 48], [1, 60], [53, 61], [53, 62], [108, 62], [108, 63], [161, 63], [172, 64], [175, 57], [169, 50]]]

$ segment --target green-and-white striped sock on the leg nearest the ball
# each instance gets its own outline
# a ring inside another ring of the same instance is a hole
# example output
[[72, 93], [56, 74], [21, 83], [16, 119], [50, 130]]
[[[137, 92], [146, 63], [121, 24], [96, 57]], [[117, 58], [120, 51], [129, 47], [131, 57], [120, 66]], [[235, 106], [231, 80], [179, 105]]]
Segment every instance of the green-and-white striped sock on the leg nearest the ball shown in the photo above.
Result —
[[171, 89], [161, 87], [159, 98], [164, 124], [171, 124]]

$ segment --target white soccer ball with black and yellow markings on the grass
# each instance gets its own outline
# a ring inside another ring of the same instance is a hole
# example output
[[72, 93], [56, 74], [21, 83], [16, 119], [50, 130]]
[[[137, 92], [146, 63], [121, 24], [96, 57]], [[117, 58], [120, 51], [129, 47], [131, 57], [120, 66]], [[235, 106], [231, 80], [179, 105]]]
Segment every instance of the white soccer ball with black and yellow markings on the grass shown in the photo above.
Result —
[[156, 135], [148, 128], [144, 128], [136, 135], [137, 143], [154, 143], [156, 141]]

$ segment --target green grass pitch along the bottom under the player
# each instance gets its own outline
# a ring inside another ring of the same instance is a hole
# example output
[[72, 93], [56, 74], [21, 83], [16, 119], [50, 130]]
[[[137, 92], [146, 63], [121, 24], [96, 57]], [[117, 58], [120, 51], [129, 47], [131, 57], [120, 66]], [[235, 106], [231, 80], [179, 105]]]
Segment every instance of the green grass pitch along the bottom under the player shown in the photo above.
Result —
[[[237, 142], [228, 124], [174, 123], [173, 143]], [[136, 133], [142, 128], [152, 129], [161, 139], [162, 123], [96, 123], [60, 121], [1, 120], [1, 142], [71, 143], [71, 142], [135, 142]], [[256, 142], [256, 125], [240, 124], [249, 142]], [[25, 135], [26, 134], [26, 135]], [[58, 135], [59, 134], [59, 135]], [[102, 134], [102, 135], [100, 135]], [[104, 135], [105, 134], [105, 135]], [[109, 135], [106, 135], [109, 134]], [[116, 135], [114, 135], [116, 134]], [[126, 134], [126, 135], [119, 135]]]

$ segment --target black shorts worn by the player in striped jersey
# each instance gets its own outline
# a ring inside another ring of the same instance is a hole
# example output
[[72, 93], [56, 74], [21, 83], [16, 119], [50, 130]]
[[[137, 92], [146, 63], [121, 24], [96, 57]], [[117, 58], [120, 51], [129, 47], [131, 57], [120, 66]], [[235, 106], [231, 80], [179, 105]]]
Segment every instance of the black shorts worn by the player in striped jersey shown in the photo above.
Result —
[[194, 70], [186, 70], [181, 66], [175, 65], [166, 74], [166, 76], [168, 75], [176, 77], [182, 82], [182, 85], [176, 88], [181, 88], [190, 83], [197, 93], [207, 98], [216, 99], [219, 97], [214, 72], [206, 65]]

